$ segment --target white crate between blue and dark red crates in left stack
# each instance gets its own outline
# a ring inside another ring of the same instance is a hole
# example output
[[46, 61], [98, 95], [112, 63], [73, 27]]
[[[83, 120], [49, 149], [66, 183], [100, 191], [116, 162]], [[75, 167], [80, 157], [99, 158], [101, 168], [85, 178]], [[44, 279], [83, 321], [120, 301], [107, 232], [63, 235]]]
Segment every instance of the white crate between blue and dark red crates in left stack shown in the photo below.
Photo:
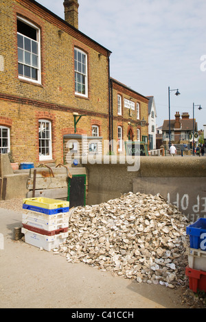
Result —
[[[58, 216], [45, 214], [22, 214], [22, 223], [41, 230], [59, 230], [60, 228], [69, 227], [69, 216]], [[51, 218], [52, 217], [52, 218]]]

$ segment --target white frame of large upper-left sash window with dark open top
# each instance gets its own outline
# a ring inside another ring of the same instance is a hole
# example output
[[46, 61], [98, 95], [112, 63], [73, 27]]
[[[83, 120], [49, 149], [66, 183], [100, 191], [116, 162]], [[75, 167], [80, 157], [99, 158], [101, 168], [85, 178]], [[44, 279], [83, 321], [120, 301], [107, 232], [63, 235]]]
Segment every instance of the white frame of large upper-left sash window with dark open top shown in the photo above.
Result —
[[[29, 38], [29, 37], [27, 37], [24, 34], [21, 34], [19, 32], [17, 32], [17, 37], [18, 37], [18, 35], [23, 36], [24, 40], [25, 40], [25, 38], [27, 38], [28, 40], [31, 40], [32, 42], [36, 42], [38, 44], [37, 53], [33, 53], [34, 55], [37, 56], [37, 66], [34, 66], [34, 64], [32, 65], [32, 62], [30, 64], [26, 64], [26, 62], [25, 62], [25, 53], [31, 53], [31, 60], [32, 60], [32, 52], [26, 51], [25, 48], [21, 49], [17, 45], [18, 51], [19, 50], [23, 51], [23, 61], [20, 60], [19, 54], [18, 54], [18, 65], [23, 64], [23, 66], [28, 66], [30, 69], [32, 69], [32, 67], [34, 67], [36, 69], [36, 71], [37, 71], [37, 79], [32, 79], [32, 77], [26, 77], [26, 76], [20, 75], [20, 74], [19, 74], [19, 79], [25, 79], [25, 80], [27, 80], [29, 82], [33, 82], [33, 83], [36, 83], [36, 84], [41, 84], [41, 32], [40, 32], [40, 29], [38, 27], [36, 27], [36, 25], [34, 25], [33, 23], [30, 23], [30, 21], [27, 21], [24, 18], [21, 18], [19, 16], [17, 16], [17, 20], [22, 21], [26, 25], [29, 25], [30, 27], [36, 29], [36, 38], [37, 38], [37, 40]], [[16, 21], [16, 23], [17, 23], [17, 21]], [[18, 73], [19, 73], [19, 71], [18, 71]]]

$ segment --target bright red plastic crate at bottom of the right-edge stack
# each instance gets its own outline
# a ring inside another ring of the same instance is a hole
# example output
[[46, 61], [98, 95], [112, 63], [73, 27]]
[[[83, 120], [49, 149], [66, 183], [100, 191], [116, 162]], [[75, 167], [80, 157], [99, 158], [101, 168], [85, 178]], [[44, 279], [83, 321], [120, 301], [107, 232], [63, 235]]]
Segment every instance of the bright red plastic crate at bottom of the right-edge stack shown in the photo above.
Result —
[[206, 292], [206, 271], [198, 271], [197, 269], [190, 269], [186, 267], [185, 274], [189, 277], [189, 287], [194, 293], [197, 290], [204, 290]]

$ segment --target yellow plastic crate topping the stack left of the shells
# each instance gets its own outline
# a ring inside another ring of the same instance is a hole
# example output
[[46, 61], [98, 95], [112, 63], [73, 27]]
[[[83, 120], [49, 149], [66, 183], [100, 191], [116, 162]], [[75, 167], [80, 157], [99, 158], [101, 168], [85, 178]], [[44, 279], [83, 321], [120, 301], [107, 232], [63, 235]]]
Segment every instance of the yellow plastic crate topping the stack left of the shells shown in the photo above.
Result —
[[30, 206], [41, 207], [45, 209], [58, 209], [69, 207], [69, 201], [56, 200], [45, 197], [25, 198], [23, 199], [23, 203]]

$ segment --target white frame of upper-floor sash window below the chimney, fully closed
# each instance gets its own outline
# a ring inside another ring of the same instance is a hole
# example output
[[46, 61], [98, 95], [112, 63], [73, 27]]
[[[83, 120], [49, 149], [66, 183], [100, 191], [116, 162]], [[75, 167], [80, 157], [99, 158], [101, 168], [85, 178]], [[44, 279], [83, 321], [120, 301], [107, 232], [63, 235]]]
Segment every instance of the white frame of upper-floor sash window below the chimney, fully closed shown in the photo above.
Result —
[[[77, 53], [77, 54], [76, 54]], [[78, 62], [78, 53], [80, 53], [81, 55], [85, 56], [85, 64]], [[77, 58], [76, 58], [77, 55]], [[82, 65], [85, 65], [85, 71], [82, 71]], [[76, 95], [80, 95], [82, 97], [88, 97], [88, 73], [87, 73], [87, 53], [84, 53], [84, 51], [78, 49], [78, 48], [74, 48], [74, 75], [75, 75], [75, 94]], [[80, 70], [81, 69], [81, 70]], [[80, 86], [82, 86], [82, 82], [80, 81], [79, 83], [78, 81], [78, 77], [80, 77], [82, 79], [82, 77], [84, 77], [85, 79], [85, 93], [82, 93], [81, 91], [76, 90], [78, 88], [78, 84]]]

